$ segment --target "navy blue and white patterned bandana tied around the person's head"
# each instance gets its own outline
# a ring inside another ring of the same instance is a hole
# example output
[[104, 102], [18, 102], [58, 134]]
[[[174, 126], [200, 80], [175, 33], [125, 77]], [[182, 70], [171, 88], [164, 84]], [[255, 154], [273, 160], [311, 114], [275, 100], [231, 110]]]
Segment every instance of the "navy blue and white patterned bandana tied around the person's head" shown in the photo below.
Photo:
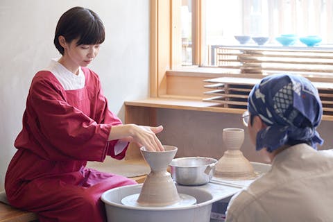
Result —
[[278, 74], [263, 78], [248, 96], [248, 111], [267, 127], [257, 133], [256, 150], [272, 152], [284, 144], [308, 142], [316, 148], [323, 139], [316, 131], [323, 108], [318, 90], [307, 78]]

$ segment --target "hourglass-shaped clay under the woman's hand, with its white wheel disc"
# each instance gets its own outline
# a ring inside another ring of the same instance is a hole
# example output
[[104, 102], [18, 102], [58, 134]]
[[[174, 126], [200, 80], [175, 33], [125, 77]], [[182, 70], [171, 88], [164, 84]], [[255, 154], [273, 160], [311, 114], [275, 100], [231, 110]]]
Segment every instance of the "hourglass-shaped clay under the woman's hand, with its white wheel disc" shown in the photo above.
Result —
[[167, 171], [173, 157], [177, 153], [176, 146], [164, 145], [164, 151], [146, 151], [140, 148], [144, 160], [151, 167], [140, 194], [134, 194], [123, 198], [123, 205], [146, 206], [146, 207], [165, 207], [174, 205], [193, 205], [196, 198], [193, 196], [178, 194], [175, 182], [171, 174]]

